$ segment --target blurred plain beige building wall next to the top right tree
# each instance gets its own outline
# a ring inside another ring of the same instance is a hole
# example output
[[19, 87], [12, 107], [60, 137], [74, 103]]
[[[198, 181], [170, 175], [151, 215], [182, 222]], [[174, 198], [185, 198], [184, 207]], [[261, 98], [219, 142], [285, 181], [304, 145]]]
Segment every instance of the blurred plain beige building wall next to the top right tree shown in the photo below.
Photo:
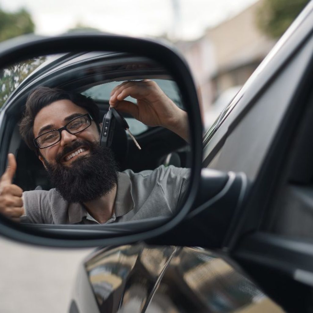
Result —
[[212, 42], [216, 68], [211, 77], [215, 96], [234, 85], [243, 85], [274, 46], [256, 26], [262, 0], [218, 26], [205, 37]]

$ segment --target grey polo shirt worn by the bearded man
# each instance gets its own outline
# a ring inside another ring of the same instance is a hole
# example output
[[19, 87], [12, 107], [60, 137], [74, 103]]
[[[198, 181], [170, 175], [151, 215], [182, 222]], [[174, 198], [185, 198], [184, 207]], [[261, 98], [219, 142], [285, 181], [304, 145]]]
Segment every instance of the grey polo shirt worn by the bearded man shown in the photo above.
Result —
[[[169, 216], [182, 203], [190, 170], [163, 165], [153, 171], [119, 173], [114, 213], [106, 223]], [[68, 203], [56, 190], [23, 192], [24, 223], [98, 223], [81, 203]]]

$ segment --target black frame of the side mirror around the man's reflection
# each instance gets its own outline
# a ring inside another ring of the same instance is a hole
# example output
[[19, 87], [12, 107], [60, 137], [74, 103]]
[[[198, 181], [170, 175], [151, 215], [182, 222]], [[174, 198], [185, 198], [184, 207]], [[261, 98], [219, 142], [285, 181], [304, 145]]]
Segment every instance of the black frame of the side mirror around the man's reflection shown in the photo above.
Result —
[[[144, 223], [140, 221], [135, 222], [133, 226], [127, 227], [126, 230], [125, 225], [122, 225], [122, 223], [114, 224], [114, 226], [100, 225], [103, 228], [101, 231], [94, 232], [85, 229], [83, 232], [84, 239], [76, 231], [62, 233], [61, 231], [57, 231], [56, 228], [54, 228], [54, 231], [50, 231], [48, 228], [29, 227], [27, 225], [13, 223], [7, 218], [0, 216], [0, 233], [8, 238], [46, 246], [83, 247], [126, 244], [154, 237], [173, 228], [182, 221], [195, 202], [200, 182], [202, 162], [202, 122], [197, 92], [190, 70], [177, 51], [153, 40], [124, 36], [66, 34], [54, 38], [43, 38], [31, 35], [14, 38], [0, 44], [0, 68], [5, 68], [10, 64], [41, 55], [59, 54], [68, 51], [75, 53], [85, 52], [83, 47], [88, 47], [88, 51], [106, 50], [140, 54], [143, 57], [150, 58], [162, 64], [171, 74], [173, 80], [176, 81], [189, 115], [192, 164], [191, 180], [187, 191], [188, 196], [181, 210], [172, 218], [155, 219], [151, 223], [145, 223], [144, 227]], [[7, 109], [6, 105], [4, 105], [2, 113], [6, 114]], [[4, 123], [1, 123], [0, 131], [6, 126]], [[0, 151], [0, 168], [3, 172], [6, 165], [7, 150], [1, 148]], [[127, 224], [131, 225], [131, 223]], [[114, 229], [114, 231], [111, 231], [110, 228]]]

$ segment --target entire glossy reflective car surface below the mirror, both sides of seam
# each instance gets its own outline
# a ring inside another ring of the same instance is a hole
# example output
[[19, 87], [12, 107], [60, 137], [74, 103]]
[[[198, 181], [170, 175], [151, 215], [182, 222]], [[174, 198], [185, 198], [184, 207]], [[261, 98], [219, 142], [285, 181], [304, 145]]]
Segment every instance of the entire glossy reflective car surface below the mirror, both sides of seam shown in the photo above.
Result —
[[127, 245], [91, 257], [85, 269], [100, 312], [233, 312], [269, 302], [223, 259], [198, 248]]

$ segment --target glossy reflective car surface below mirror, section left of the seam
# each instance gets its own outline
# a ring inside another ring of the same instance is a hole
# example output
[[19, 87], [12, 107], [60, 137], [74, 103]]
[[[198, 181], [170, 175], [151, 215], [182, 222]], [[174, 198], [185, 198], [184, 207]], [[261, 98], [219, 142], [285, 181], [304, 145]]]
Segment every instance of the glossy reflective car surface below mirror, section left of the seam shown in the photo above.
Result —
[[173, 249], [122, 246], [88, 261], [85, 267], [100, 312], [140, 311]]

